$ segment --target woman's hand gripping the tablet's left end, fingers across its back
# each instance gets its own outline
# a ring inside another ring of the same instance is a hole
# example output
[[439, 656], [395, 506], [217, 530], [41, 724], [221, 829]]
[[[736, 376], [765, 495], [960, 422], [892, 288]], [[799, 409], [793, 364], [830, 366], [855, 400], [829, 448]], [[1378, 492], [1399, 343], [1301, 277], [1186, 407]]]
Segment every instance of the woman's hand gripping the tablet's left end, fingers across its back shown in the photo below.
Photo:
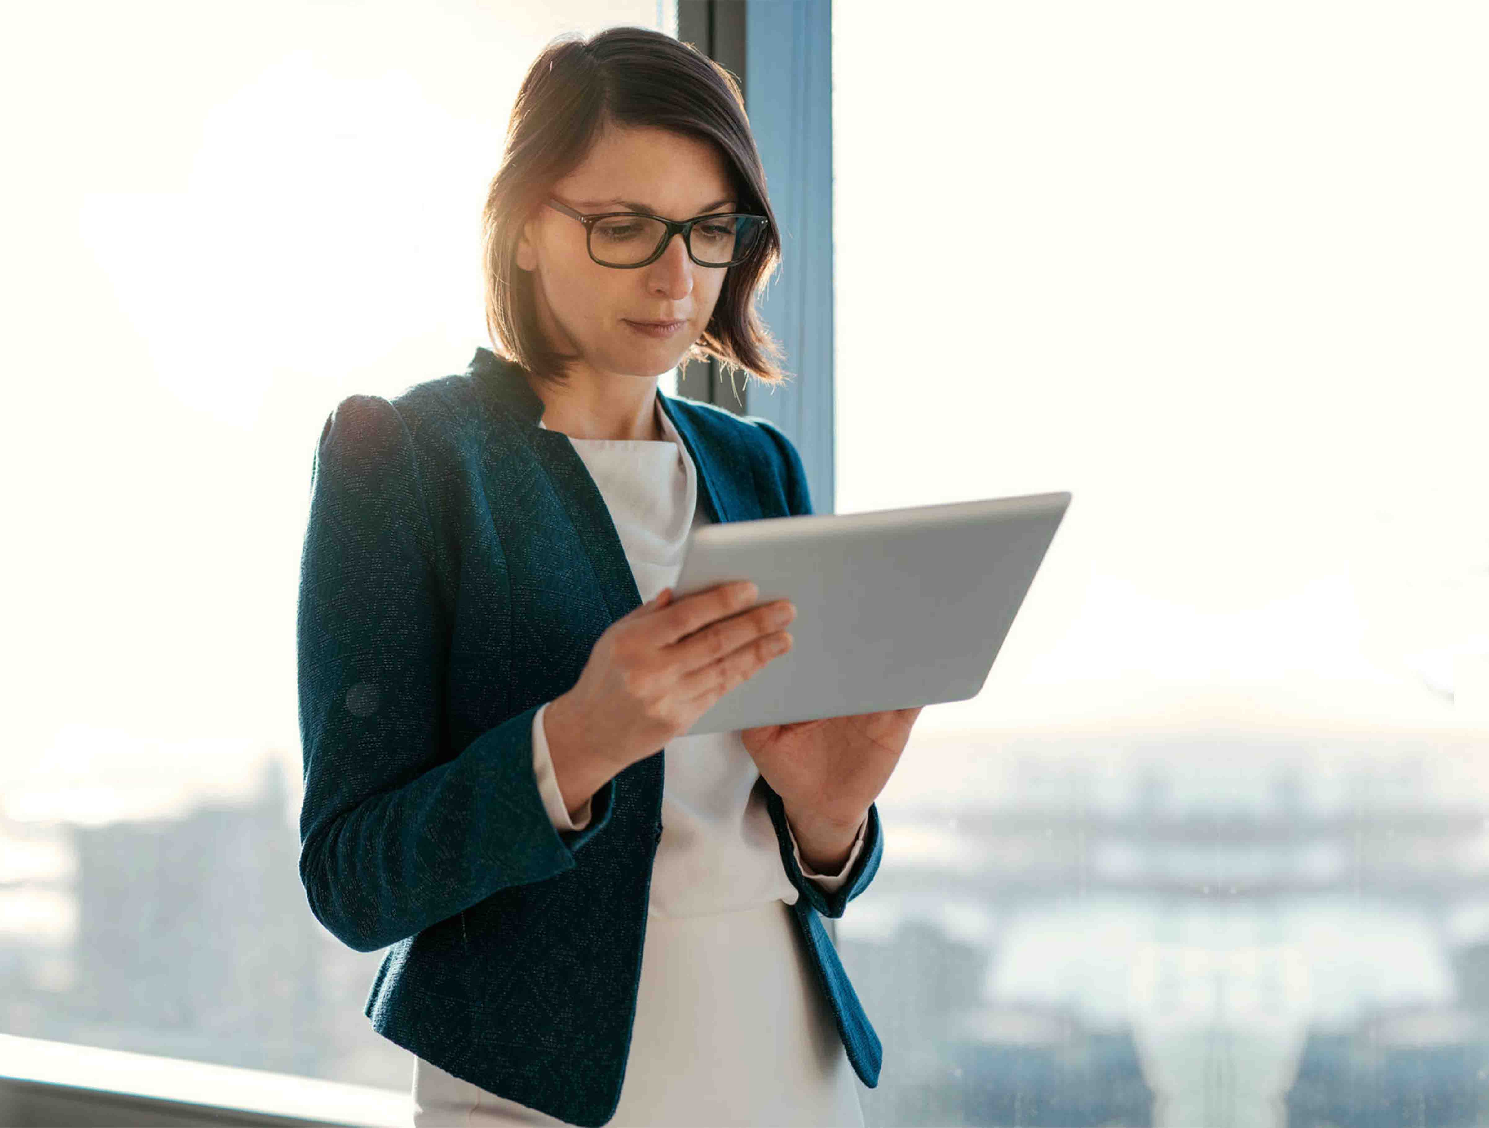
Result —
[[756, 595], [747, 580], [676, 601], [663, 588], [599, 637], [579, 680], [549, 704], [545, 722], [599, 757], [606, 778], [646, 759], [791, 649], [782, 628], [795, 609], [789, 600], [753, 607]]

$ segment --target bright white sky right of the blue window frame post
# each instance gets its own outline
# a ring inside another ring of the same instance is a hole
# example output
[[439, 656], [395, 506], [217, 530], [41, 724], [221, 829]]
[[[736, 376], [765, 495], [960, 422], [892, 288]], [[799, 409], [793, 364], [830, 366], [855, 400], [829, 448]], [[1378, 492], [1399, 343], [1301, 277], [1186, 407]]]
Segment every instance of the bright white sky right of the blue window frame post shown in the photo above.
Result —
[[1489, 10], [889, 16], [834, 6], [837, 510], [1074, 494], [922, 723], [1489, 731]]

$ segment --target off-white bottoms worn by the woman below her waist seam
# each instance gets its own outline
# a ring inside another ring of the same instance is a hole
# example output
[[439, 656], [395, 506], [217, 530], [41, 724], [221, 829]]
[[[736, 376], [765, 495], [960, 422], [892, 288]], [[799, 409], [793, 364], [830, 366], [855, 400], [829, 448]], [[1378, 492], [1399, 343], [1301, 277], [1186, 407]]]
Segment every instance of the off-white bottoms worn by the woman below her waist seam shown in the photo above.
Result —
[[[414, 1060], [415, 1125], [561, 1125]], [[791, 906], [651, 909], [613, 1125], [862, 1125], [858, 1077]]]

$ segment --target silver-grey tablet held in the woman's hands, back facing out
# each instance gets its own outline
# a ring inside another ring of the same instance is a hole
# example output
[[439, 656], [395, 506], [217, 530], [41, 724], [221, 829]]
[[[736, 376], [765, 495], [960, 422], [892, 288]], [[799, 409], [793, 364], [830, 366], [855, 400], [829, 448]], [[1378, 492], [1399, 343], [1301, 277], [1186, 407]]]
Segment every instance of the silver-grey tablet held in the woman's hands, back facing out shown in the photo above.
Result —
[[752, 580], [786, 598], [792, 647], [683, 735], [977, 696], [1069, 493], [700, 525], [676, 598]]

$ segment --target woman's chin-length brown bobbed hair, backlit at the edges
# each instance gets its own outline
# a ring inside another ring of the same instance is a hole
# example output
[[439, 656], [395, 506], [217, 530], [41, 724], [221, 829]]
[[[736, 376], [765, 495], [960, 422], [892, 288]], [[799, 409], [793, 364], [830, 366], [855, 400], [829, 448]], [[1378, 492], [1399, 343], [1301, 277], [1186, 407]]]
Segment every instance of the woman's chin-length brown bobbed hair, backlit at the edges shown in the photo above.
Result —
[[517, 266], [523, 225], [549, 189], [573, 171], [612, 126], [651, 126], [713, 141], [733, 168], [739, 210], [770, 223], [744, 262], [730, 266], [713, 315], [683, 357], [716, 357], [765, 384], [788, 374], [780, 344], [755, 311], [755, 296], [780, 262], [765, 170], [739, 83], [689, 43], [645, 27], [612, 27], [551, 40], [527, 70], [506, 128], [506, 150], [482, 211], [485, 326], [497, 353], [539, 379], [561, 382], [578, 356], [548, 348], [533, 275]]

